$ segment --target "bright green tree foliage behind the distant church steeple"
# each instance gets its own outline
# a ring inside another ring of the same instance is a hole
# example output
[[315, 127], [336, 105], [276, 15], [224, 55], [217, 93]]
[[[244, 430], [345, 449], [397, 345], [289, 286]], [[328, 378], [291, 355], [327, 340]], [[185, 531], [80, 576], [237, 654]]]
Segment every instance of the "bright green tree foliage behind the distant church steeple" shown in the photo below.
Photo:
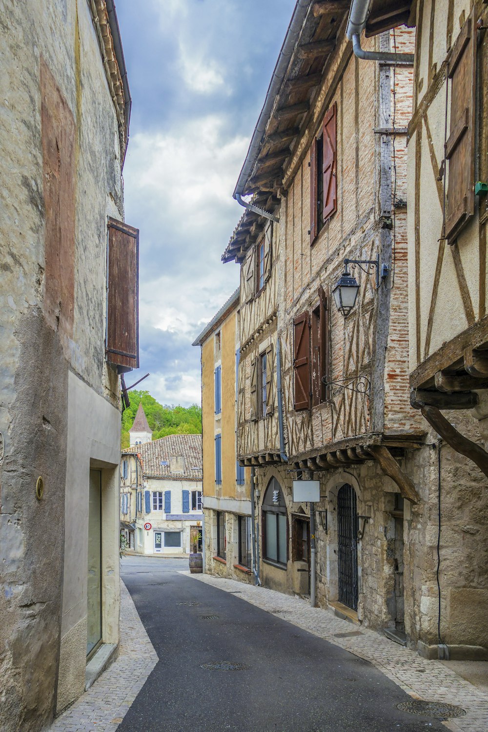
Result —
[[136, 390], [129, 392], [129, 399], [130, 406], [124, 409], [122, 414], [122, 449], [129, 447], [129, 429], [132, 427], [140, 402], [151, 427], [153, 440], [168, 435], [198, 435], [202, 432], [202, 408], [198, 404], [189, 407], [182, 407], [179, 404], [162, 406], [149, 392]]

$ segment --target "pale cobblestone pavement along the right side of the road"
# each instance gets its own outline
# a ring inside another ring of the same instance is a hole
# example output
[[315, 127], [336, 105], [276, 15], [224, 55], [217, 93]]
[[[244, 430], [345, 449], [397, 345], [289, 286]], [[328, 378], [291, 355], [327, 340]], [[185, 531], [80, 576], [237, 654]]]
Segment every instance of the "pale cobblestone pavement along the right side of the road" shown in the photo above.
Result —
[[[189, 572], [181, 574], [189, 575]], [[297, 597], [211, 575], [189, 576], [233, 592], [241, 600], [364, 658], [415, 699], [462, 706], [467, 712], [465, 717], [443, 722], [453, 732], [488, 731], [488, 694], [462, 679], [448, 665], [421, 658], [415, 651], [388, 641], [377, 632], [363, 627], [359, 629], [349, 621], [337, 618], [330, 610], [311, 608], [308, 602]], [[359, 635], [344, 637], [344, 634], [355, 630], [359, 630]], [[427, 720], [428, 717], [418, 717], [419, 722]]]

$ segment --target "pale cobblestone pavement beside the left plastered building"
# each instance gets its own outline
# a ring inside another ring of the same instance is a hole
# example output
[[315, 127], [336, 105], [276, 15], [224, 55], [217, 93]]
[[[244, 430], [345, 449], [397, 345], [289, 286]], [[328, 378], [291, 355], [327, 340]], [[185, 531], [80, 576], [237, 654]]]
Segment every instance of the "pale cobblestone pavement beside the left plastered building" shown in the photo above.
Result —
[[120, 637], [117, 660], [55, 720], [50, 732], [115, 732], [157, 664], [156, 651], [123, 582]]

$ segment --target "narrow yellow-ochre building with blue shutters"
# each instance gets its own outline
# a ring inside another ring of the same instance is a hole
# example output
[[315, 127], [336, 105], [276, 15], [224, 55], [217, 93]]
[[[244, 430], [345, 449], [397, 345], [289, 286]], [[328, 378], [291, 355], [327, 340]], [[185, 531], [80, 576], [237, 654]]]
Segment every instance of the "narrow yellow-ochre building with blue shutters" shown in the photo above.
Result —
[[255, 533], [249, 468], [236, 455], [236, 403], [244, 392], [239, 370], [239, 288], [193, 346], [201, 348], [205, 571], [249, 582]]

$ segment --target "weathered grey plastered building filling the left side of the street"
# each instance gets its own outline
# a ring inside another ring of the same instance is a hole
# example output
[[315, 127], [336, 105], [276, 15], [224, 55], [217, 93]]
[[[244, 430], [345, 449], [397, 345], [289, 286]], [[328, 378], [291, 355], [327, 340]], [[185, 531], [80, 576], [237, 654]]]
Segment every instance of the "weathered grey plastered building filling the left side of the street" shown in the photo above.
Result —
[[130, 95], [113, 0], [3, 2], [1, 16], [0, 727], [30, 732], [119, 643], [138, 231], [123, 223]]

